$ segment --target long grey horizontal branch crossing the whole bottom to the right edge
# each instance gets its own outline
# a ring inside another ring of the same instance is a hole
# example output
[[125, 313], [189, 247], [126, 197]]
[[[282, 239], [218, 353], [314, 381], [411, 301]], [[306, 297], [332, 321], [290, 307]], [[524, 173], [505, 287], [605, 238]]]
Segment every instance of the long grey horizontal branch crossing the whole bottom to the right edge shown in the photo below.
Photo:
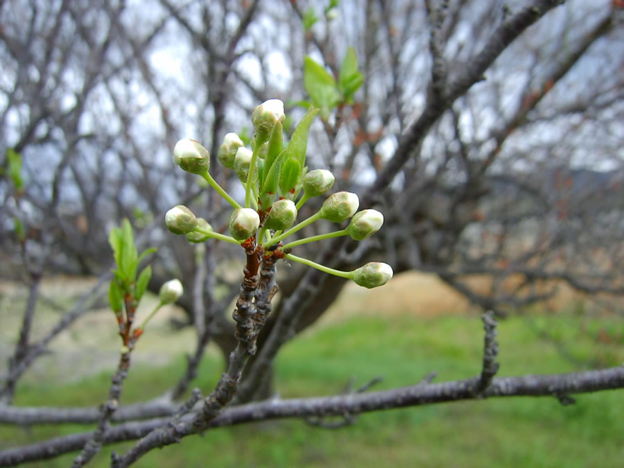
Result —
[[[557, 397], [576, 393], [597, 392], [624, 388], [624, 366], [603, 370], [571, 372], [568, 374], [523, 375], [496, 377], [483, 394], [476, 389], [480, 376], [444, 383], [421, 383], [404, 388], [370, 393], [352, 393], [333, 397], [271, 399], [254, 404], [225, 408], [211, 419], [205, 429], [232, 426], [247, 422], [285, 419], [293, 417], [324, 417], [345, 414], [356, 415], [393, 408], [422, 406], [426, 404], [461, 401], [491, 397]], [[180, 424], [189, 424], [195, 417], [189, 413]], [[169, 418], [149, 419], [142, 422], [126, 422], [107, 431], [105, 444], [135, 440], [168, 422]], [[62, 453], [80, 450], [92, 436], [92, 432], [67, 435], [36, 444], [0, 452], [0, 467], [14, 466], [22, 462], [45, 460]]]

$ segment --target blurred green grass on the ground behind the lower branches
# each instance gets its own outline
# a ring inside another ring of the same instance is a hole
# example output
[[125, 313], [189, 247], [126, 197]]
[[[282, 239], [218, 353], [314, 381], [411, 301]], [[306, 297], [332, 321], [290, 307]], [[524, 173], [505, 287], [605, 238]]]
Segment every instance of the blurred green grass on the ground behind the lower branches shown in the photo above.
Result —
[[[621, 320], [571, 315], [501, 322], [500, 375], [571, 372], [577, 365], [536, 337], [548, 328], [573, 343], [580, 361], [624, 361]], [[541, 328], [540, 328], [541, 327]], [[605, 338], [605, 336], [607, 338]], [[381, 375], [375, 389], [410, 385], [428, 372], [435, 381], [462, 379], [480, 370], [482, 325], [477, 317], [349, 318], [306, 333], [284, 347], [276, 366], [281, 397], [340, 392], [351, 376], [361, 385]], [[209, 356], [214, 356], [210, 354]], [[158, 395], [177, 379], [175, 365], [139, 365], [126, 381], [123, 399]], [[209, 357], [197, 385], [214, 385], [220, 362]], [[109, 374], [72, 385], [21, 385], [16, 404], [89, 405], [102, 401]], [[86, 430], [85, 426], [0, 426], [0, 447]], [[555, 398], [489, 399], [361, 415], [354, 426], [327, 430], [297, 420], [220, 428], [203, 437], [152, 451], [137, 467], [614, 467], [624, 454], [624, 392], [578, 395], [573, 406]], [[123, 453], [130, 444], [114, 449]], [[94, 466], [107, 466], [105, 447]], [[31, 466], [64, 467], [73, 455]]]

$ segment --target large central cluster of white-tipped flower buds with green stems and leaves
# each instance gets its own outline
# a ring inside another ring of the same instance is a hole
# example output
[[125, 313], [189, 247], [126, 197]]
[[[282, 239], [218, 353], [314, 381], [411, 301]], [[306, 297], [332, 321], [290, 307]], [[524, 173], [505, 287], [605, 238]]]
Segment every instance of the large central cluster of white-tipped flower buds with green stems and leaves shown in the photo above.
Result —
[[[185, 234], [193, 243], [220, 239], [240, 244], [253, 240], [261, 250], [279, 250], [288, 259], [347, 277], [360, 286], [374, 288], [385, 284], [392, 277], [392, 268], [386, 263], [372, 262], [351, 272], [341, 272], [291, 254], [292, 248], [297, 245], [336, 236], [348, 235], [356, 241], [363, 241], [383, 224], [383, 215], [379, 211], [358, 211], [358, 196], [347, 191], [333, 193], [315, 214], [297, 223], [297, 211], [304, 203], [310, 198], [327, 194], [334, 182], [330, 171], [308, 171], [305, 165], [309, 130], [318, 112], [318, 109], [311, 107], [295, 128], [291, 140], [285, 144], [282, 128], [284, 103], [271, 99], [256, 107], [252, 113], [255, 133], [251, 148], [247, 148], [235, 133], [225, 135], [217, 157], [223, 166], [236, 173], [243, 184], [243, 203], [229, 196], [211, 177], [210, 155], [206, 148], [195, 140], [178, 141], [173, 149], [175, 164], [184, 171], [203, 177], [232, 205], [233, 211], [229, 218], [229, 236], [215, 232], [205, 219], [197, 218], [182, 205], [167, 212], [165, 223], [168, 229], [173, 234]], [[331, 223], [350, 221], [345, 229], [286, 241], [288, 236], [319, 219]], [[276, 245], [279, 248], [276, 249]]]

